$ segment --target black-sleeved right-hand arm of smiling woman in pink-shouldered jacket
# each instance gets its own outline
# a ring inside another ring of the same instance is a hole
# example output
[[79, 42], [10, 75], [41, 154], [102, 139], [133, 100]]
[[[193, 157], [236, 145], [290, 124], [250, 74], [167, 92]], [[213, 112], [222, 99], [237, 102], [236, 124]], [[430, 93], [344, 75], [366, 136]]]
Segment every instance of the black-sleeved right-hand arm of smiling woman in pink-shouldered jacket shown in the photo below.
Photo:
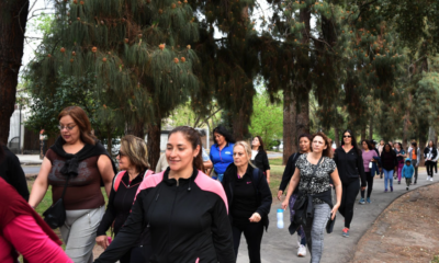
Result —
[[217, 262], [235, 263], [230, 221], [224, 201], [219, 196], [212, 210], [212, 238]]

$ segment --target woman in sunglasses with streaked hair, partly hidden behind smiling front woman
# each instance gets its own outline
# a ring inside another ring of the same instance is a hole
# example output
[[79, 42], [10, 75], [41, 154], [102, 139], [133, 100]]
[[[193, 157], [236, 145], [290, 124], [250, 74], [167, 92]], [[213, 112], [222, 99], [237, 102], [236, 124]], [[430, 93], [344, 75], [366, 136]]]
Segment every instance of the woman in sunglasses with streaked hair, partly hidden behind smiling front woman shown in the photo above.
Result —
[[[102, 218], [101, 225], [99, 225], [98, 237], [95, 238], [97, 243], [104, 250], [110, 244], [106, 230], [110, 229], [114, 221], [114, 235], [117, 238], [119, 231], [130, 216], [138, 186], [145, 176], [153, 174], [148, 170], [146, 142], [133, 135], [126, 135], [122, 138], [117, 161], [121, 172], [114, 176], [105, 215]], [[145, 253], [148, 253], [149, 248], [149, 238], [147, 237], [147, 232], [144, 231], [137, 243], [120, 259], [120, 262], [145, 262], [145, 259], [149, 258], [145, 255]]]

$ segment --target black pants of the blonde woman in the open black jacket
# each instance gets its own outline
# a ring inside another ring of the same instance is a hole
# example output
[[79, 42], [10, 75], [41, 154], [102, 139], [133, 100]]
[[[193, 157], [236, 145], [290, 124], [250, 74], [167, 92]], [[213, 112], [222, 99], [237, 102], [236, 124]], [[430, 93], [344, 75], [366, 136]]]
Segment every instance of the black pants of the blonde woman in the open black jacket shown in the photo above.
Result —
[[240, 236], [244, 232], [244, 237], [247, 241], [248, 258], [250, 259], [250, 263], [260, 263], [260, 243], [263, 235], [262, 221], [239, 224], [236, 226], [233, 225], [232, 232], [234, 237], [235, 259], [238, 258]]

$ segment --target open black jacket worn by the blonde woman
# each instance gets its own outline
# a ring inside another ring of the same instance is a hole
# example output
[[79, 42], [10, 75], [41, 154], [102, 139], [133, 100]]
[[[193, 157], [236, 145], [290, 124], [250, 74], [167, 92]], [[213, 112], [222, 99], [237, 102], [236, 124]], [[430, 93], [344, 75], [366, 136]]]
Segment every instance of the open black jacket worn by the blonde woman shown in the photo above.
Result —
[[[258, 169], [257, 173], [258, 176], [257, 179], [254, 176], [254, 169], [250, 164], [247, 168], [246, 174], [251, 176], [252, 185], [255, 186], [256, 191], [256, 201], [258, 204], [258, 208], [256, 209], [256, 213], [258, 213], [261, 216], [261, 220], [263, 222], [263, 226], [266, 227], [266, 230], [269, 225], [269, 219], [268, 219], [268, 214], [270, 213], [271, 208], [271, 203], [273, 202], [273, 198], [271, 196], [271, 191], [270, 187], [268, 186], [267, 179], [263, 175], [263, 173]], [[224, 173], [223, 178], [223, 187], [224, 191], [226, 192], [227, 196], [227, 202], [228, 202], [228, 207], [232, 207], [233, 202], [234, 202], [234, 188], [235, 188], [235, 183], [237, 179], [237, 167], [235, 163], [232, 163], [228, 165], [226, 172]], [[233, 222], [233, 217], [232, 215], [228, 216], [230, 224]]]

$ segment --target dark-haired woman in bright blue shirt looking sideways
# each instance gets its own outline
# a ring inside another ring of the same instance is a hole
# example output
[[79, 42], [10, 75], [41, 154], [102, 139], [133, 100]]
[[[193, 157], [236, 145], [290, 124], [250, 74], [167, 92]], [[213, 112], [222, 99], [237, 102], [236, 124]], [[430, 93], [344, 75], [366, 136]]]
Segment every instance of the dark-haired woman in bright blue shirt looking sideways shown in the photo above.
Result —
[[214, 169], [212, 179], [222, 182], [227, 167], [234, 162], [233, 147], [235, 146], [235, 139], [223, 126], [213, 129], [213, 139], [215, 144], [211, 147], [210, 153]]

